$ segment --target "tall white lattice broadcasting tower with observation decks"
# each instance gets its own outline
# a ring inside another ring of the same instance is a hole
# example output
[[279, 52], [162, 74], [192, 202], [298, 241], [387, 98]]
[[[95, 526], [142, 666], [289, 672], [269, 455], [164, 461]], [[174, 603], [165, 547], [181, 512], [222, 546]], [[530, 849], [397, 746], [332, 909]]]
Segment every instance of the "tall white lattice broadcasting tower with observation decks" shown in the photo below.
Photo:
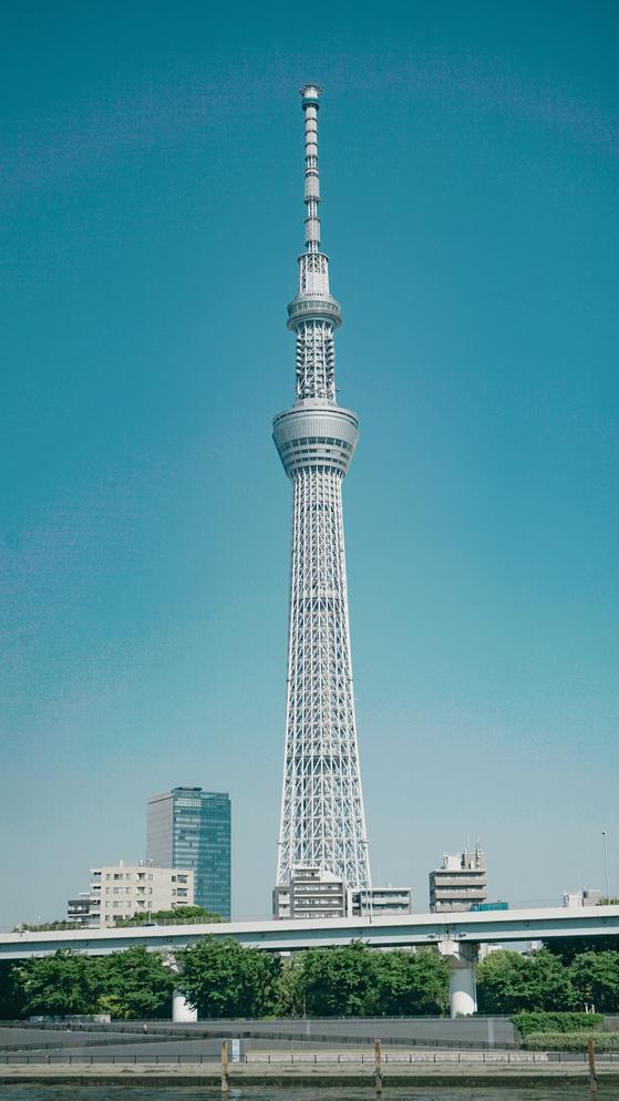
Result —
[[288, 307], [297, 338], [296, 399], [274, 420], [292, 483], [292, 562], [286, 749], [277, 884], [296, 867], [319, 868], [352, 889], [370, 887], [370, 862], [352, 690], [342, 481], [358, 420], [336, 397], [333, 336], [340, 307], [320, 249], [318, 100], [301, 89], [306, 135], [306, 251]]

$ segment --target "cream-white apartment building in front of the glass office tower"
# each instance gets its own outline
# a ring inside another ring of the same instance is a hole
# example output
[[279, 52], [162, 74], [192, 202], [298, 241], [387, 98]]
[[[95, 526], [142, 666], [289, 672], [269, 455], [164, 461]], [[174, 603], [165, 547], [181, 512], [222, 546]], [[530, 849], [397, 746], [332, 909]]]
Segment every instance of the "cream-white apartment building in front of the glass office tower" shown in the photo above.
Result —
[[[91, 868], [91, 928], [114, 925], [116, 918], [154, 914], [194, 905], [194, 873], [156, 864], [111, 864]], [[147, 918], [145, 918], [147, 920]]]

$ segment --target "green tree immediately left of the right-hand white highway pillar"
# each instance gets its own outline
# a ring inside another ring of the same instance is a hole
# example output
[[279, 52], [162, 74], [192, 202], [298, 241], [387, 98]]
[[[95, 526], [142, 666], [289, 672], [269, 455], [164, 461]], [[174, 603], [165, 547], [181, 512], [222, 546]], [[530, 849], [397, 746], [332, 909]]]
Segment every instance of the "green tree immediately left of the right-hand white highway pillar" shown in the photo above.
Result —
[[376, 955], [376, 1005], [388, 1017], [444, 1013], [450, 1001], [450, 964], [433, 949]]

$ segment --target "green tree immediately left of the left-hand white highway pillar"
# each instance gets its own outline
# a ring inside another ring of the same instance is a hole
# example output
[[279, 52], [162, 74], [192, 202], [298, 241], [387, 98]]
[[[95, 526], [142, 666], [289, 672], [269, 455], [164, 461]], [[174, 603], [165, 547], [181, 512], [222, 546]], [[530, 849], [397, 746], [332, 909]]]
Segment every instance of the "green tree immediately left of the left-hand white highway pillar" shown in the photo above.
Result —
[[161, 953], [136, 946], [97, 963], [100, 1012], [123, 1020], [169, 1018], [175, 977]]

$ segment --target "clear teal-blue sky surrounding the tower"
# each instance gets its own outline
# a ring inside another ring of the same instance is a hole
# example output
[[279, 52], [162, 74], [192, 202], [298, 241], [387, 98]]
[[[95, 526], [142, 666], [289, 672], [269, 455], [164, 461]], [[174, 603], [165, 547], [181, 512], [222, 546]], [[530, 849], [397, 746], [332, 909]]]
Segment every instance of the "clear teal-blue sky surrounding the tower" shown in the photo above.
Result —
[[234, 802], [266, 915], [286, 690], [302, 114], [318, 81], [374, 881], [619, 893], [618, 9], [4, 13], [0, 925]]

